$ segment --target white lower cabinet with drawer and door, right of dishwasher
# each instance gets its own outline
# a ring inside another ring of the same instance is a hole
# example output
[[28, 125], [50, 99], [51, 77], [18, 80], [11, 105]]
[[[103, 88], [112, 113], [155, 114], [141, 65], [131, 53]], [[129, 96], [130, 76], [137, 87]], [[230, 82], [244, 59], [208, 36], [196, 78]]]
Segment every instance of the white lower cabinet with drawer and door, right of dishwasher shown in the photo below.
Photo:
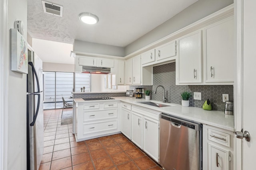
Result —
[[233, 132], [204, 125], [204, 170], [233, 170]]

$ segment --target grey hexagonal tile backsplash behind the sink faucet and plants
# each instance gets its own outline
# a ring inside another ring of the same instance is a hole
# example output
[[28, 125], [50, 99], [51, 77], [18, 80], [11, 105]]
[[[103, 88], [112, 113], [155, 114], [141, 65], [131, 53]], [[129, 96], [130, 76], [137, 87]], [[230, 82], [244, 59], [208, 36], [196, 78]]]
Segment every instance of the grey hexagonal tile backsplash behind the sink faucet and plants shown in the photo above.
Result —
[[[151, 90], [151, 99], [162, 101], [163, 90], [162, 88], [157, 89], [156, 87], [162, 85], [165, 88], [165, 96], [168, 102], [174, 104], [181, 104], [180, 93], [184, 91], [201, 92], [201, 100], [194, 100], [190, 98], [190, 106], [202, 107], [204, 102], [209, 99], [213, 110], [224, 111], [225, 103], [222, 102], [222, 94], [229, 94], [229, 100], [234, 98], [234, 87], [233, 85], [176, 85], [175, 84], [176, 73], [175, 63], [163, 64], [160, 66], [153, 67], [153, 86], [130, 86], [130, 90], [134, 88], [144, 88]], [[145, 98], [143, 96], [143, 98]]]

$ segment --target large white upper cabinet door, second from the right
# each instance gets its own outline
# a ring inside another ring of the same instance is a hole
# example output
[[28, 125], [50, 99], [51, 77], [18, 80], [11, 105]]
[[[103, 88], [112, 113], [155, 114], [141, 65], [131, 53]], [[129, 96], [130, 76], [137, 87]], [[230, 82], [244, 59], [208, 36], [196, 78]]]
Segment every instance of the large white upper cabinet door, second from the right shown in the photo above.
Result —
[[178, 82], [202, 82], [201, 31], [182, 37], [178, 46]]

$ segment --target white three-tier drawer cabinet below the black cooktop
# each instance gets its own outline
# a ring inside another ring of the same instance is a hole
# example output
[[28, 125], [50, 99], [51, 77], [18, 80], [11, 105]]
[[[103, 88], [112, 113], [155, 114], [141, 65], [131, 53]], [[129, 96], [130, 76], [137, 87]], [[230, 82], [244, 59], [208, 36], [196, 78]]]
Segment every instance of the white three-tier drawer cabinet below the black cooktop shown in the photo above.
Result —
[[120, 132], [120, 102], [78, 103], [74, 112], [74, 133], [76, 141]]

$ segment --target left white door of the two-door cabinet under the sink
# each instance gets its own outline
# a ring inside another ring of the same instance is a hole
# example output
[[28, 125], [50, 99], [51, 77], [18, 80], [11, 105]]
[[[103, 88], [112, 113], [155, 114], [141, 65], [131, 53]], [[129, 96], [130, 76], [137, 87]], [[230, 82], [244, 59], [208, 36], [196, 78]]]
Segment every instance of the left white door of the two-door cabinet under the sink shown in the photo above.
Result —
[[132, 142], [142, 148], [142, 116], [132, 113]]

